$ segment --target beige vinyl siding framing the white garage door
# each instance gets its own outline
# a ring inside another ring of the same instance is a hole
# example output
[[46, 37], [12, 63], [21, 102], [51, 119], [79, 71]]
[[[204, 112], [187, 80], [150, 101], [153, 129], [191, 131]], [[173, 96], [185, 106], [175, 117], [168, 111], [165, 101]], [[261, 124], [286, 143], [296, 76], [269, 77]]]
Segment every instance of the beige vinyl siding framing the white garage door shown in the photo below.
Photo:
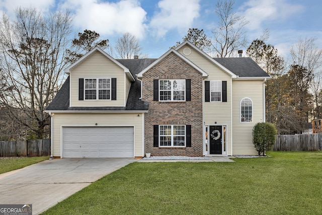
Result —
[[[139, 116], [138, 116], [139, 115]], [[134, 156], [143, 157], [142, 117], [137, 113], [54, 113], [53, 156], [60, 157], [62, 126], [134, 126]]]

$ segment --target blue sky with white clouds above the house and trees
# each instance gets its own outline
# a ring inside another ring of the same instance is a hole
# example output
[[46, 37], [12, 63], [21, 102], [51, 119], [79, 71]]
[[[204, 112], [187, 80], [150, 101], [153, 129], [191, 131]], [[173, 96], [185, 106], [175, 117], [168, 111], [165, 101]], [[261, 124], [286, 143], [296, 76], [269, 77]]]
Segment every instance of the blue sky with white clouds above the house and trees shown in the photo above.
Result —
[[[129, 32], [142, 46], [142, 54], [157, 58], [187, 34], [189, 28], [203, 29], [208, 36], [217, 27], [216, 0], [1, 0], [0, 10], [15, 18], [17, 7], [37, 8], [43, 14], [69, 10], [75, 35], [85, 29], [109, 39], [113, 47]], [[287, 58], [299, 38], [315, 38], [322, 48], [322, 1], [235, 0], [233, 11], [245, 17], [249, 44], [265, 29], [266, 41]], [[244, 53], [247, 48], [243, 48]]]

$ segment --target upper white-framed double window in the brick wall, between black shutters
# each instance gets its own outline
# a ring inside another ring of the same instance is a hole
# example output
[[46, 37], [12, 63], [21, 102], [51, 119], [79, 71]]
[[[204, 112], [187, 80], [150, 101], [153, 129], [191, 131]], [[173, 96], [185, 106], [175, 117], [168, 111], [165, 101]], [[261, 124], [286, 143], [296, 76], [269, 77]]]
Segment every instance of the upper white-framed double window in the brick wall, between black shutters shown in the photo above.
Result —
[[186, 80], [159, 80], [159, 101], [185, 101]]

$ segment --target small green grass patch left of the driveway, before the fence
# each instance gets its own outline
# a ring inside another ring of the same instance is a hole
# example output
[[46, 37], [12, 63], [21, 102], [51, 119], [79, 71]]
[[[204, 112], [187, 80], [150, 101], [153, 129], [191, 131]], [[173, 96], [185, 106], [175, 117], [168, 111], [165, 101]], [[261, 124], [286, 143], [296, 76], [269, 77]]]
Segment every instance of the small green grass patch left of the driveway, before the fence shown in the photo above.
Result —
[[49, 157], [13, 157], [0, 158], [0, 174], [21, 169], [38, 162], [48, 160]]

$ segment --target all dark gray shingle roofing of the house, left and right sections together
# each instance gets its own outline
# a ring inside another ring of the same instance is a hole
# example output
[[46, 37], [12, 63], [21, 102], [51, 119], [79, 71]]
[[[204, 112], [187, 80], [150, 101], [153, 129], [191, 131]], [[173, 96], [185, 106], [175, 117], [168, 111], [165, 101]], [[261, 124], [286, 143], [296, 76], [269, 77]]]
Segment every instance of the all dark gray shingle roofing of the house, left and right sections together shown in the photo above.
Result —
[[[141, 83], [136, 79], [136, 74], [154, 62], [156, 59], [119, 59], [120, 63], [126, 66], [135, 82], [132, 83], [126, 107], [69, 107], [69, 77], [47, 107], [47, 111], [54, 110], [106, 110], [106, 111], [126, 111], [126, 110], [147, 110], [148, 102], [143, 102], [141, 97]], [[269, 77], [267, 73], [251, 58], [233, 57], [233, 58], [214, 58], [218, 63], [229, 69], [239, 77]]]

